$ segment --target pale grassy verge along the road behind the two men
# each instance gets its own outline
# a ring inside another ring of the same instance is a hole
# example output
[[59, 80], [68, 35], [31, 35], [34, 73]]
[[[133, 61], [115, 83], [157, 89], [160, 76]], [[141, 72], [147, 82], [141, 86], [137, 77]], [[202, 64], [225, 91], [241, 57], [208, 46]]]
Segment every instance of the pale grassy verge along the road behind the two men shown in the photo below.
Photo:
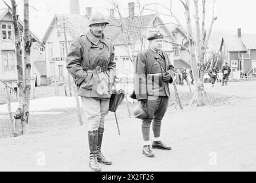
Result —
[[[43, 96], [45, 93], [44, 87], [40, 87], [41, 93], [38, 96]], [[48, 90], [49, 91], [49, 90]], [[53, 88], [54, 93], [54, 88]], [[65, 94], [65, 93], [64, 93]], [[186, 109], [190, 104], [191, 98], [193, 93], [190, 92], [180, 92], [180, 99], [184, 108]], [[38, 97], [37, 96], [37, 97]], [[48, 97], [52, 96], [52, 93], [48, 93]], [[54, 95], [53, 95], [54, 96]], [[219, 93], [208, 93], [208, 98], [211, 101], [211, 105], [218, 106], [218, 105], [225, 105], [233, 99], [231, 96], [225, 96]], [[170, 100], [170, 107], [168, 108], [167, 113], [171, 113], [172, 111], [178, 108], [178, 105], [175, 103], [175, 96], [171, 93], [171, 100]], [[128, 102], [130, 112], [133, 116], [133, 107], [136, 105], [136, 102]], [[195, 108], [195, 105], [192, 105], [192, 108]], [[179, 109], [179, 108], [178, 108]], [[82, 120], [86, 123], [86, 116], [84, 111], [81, 108], [82, 113]], [[9, 137], [9, 121], [7, 118], [7, 113], [0, 112], [0, 137]], [[121, 120], [124, 118], [129, 118], [129, 112], [127, 109], [127, 104], [123, 102], [119, 109], [117, 110], [117, 117]], [[115, 116], [112, 112], [109, 112], [108, 116], [106, 117], [107, 121], [115, 121]], [[40, 111], [40, 112], [31, 112], [29, 117], [29, 133], [36, 134], [36, 133], [43, 133], [49, 132], [52, 130], [61, 130], [61, 129], [69, 129], [79, 126], [79, 122], [77, 119], [77, 110], [75, 108], [65, 108], [65, 109], [53, 109], [48, 111]]]

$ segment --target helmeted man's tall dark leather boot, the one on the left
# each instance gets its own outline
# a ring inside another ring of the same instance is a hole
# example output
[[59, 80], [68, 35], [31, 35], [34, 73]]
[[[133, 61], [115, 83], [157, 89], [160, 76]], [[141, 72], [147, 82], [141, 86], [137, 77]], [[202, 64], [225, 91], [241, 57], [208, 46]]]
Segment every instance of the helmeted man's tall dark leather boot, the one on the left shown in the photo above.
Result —
[[88, 141], [90, 148], [89, 167], [96, 172], [101, 170], [97, 161], [97, 143], [98, 143], [98, 130], [88, 131]]

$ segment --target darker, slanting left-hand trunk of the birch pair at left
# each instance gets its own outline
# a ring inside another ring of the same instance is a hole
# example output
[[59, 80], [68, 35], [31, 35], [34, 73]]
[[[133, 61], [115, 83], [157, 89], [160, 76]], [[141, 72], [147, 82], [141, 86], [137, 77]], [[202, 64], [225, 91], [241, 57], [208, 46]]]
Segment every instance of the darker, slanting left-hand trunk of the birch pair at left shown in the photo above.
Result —
[[18, 75], [18, 108], [14, 114], [15, 118], [15, 133], [18, 135], [21, 132], [19, 126], [24, 121], [24, 85], [23, 85], [23, 63], [22, 63], [22, 48], [21, 48], [21, 36], [19, 33], [18, 26], [18, 15], [17, 15], [17, 4], [15, 0], [11, 0], [13, 24], [14, 24], [14, 34], [15, 34], [15, 52], [17, 57], [17, 75]]

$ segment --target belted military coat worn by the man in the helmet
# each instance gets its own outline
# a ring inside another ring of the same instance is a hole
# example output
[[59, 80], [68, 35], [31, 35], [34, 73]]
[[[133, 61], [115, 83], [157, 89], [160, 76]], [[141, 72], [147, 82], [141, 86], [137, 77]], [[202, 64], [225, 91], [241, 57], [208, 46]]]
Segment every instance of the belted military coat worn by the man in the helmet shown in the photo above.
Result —
[[[90, 30], [74, 39], [66, 57], [66, 68], [78, 86], [78, 96], [110, 98], [115, 84], [114, 47], [103, 34], [102, 41]], [[96, 66], [108, 66], [107, 71], [87, 72]]]

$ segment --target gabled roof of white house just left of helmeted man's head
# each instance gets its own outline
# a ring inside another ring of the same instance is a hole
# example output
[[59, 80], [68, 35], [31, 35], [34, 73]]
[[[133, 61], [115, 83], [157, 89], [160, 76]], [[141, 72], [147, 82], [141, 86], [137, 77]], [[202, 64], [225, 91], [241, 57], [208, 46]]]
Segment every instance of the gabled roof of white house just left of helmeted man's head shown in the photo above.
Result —
[[63, 21], [65, 21], [66, 31], [70, 33], [73, 39], [81, 34], [85, 34], [86, 31], [89, 29], [89, 19], [86, 18], [84, 15], [56, 14], [54, 15], [52, 22], [46, 30], [44, 38], [42, 39], [42, 43], [46, 42], [53, 27], [63, 24]]

